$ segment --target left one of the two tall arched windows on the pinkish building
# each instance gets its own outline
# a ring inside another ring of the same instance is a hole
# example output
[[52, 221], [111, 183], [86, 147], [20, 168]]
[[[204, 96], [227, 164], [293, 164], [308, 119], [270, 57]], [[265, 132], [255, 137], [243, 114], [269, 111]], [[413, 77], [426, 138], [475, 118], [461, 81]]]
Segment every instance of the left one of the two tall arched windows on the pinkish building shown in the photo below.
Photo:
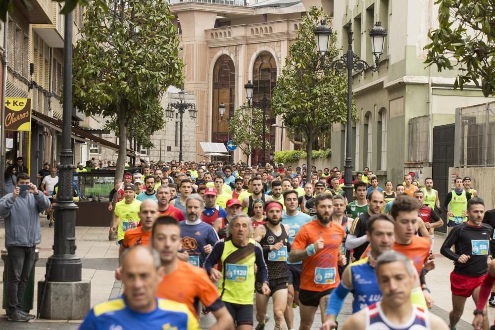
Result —
[[[226, 119], [234, 114], [236, 91], [236, 69], [229, 55], [222, 55], [215, 62], [212, 91], [211, 141], [227, 143], [229, 141], [229, 130]], [[223, 118], [218, 113], [220, 103], [225, 104]]]

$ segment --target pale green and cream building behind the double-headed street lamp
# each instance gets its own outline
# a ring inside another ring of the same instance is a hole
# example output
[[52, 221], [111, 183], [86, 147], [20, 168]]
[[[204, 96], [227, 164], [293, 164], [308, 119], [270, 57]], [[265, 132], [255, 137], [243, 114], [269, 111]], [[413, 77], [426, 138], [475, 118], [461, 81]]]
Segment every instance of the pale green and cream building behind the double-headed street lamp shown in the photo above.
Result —
[[[402, 182], [413, 171], [420, 180], [432, 173], [433, 129], [454, 123], [455, 108], [486, 102], [470, 86], [452, 88], [457, 71], [438, 72], [424, 64], [428, 31], [438, 27], [438, 5], [430, 0], [344, 0], [334, 3], [334, 31], [347, 51], [352, 22], [354, 52], [373, 62], [369, 29], [388, 29], [380, 70], [353, 76], [359, 121], [352, 127], [354, 170]], [[333, 125], [332, 165], [344, 166], [345, 127]], [[447, 174], [446, 174], [447, 175]]]

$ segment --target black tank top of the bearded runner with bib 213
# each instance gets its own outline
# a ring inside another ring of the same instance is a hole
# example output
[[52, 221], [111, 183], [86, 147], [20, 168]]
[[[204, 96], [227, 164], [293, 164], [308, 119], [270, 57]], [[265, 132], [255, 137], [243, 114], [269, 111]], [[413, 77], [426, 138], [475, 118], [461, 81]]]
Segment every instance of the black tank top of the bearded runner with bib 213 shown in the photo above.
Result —
[[[289, 242], [289, 235], [285, 231], [284, 225], [280, 224], [282, 228], [282, 233], [280, 236], [276, 236], [267, 226], [267, 224], [263, 225], [266, 229], [266, 235], [263, 237], [259, 244], [262, 247], [267, 247], [270, 245], [274, 245], [280, 241], [284, 242], [285, 249], [287, 249], [287, 244]], [[265, 251], [263, 249], [263, 257], [265, 258], [266, 267], [268, 268], [268, 280], [275, 279], [283, 279], [289, 276], [288, 268], [287, 268], [287, 259], [289, 258], [289, 251], [286, 251], [286, 260], [275, 261], [275, 255], [277, 251]], [[270, 253], [272, 255], [270, 255]], [[272, 259], [272, 260], [270, 260]]]

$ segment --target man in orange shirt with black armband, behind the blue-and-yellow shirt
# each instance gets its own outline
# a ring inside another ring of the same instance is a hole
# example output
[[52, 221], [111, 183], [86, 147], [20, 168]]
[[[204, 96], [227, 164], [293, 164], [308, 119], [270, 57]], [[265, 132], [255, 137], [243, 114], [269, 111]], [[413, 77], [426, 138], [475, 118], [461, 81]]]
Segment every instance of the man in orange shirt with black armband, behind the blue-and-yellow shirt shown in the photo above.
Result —
[[169, 216], [159, 217], [153, 224], [151, 241], [160, 254], [165, 271], [156, 296], [184, 303], [195, 315], [198, 315], [200, 300], [215, 316], [215, 329], [230, 329], [234, 321], [206, 271], [177, 258], [182, 241], [177, 220]]

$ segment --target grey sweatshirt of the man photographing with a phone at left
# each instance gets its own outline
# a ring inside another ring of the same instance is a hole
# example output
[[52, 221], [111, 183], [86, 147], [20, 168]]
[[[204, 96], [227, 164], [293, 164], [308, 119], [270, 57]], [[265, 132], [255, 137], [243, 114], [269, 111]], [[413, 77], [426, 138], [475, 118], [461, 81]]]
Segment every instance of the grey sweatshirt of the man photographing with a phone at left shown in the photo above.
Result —
[[8, 193], [0, 199], [0, 217], [5, 219], [5, 247], [31, 247], [41, 242], [40, 212], [50, 206], [41, 191], [13, 198]]

